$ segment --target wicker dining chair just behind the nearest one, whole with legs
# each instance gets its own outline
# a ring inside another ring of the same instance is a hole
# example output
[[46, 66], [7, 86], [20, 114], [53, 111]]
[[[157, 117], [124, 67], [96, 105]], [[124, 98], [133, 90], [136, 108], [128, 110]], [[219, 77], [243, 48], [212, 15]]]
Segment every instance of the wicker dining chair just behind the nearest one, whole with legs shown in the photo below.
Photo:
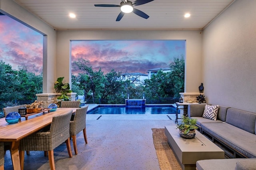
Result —
[[74, 121], [70, 121], [70, 136], [72, 137], [75, 154], [78, 154], [77, 145], [76, 145], [76, 134], [78, 134], [83, 130], [84, 141], [86, 144], [88, 143], [87, 136], [86, 136], [87, 109], [88, 109], [88, 105], [86, 107], [76, 109], [76, 114], [74, 115]]

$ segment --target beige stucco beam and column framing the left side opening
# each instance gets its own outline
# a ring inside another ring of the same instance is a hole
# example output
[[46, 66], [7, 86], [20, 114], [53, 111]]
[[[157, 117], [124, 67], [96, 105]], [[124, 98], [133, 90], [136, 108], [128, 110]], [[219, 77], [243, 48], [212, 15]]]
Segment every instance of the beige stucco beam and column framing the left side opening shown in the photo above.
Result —
[[[54, 92], [56, 81], [56, 31], [12, 0], [0, 0], [2, 13], [27, 24], [44, 36], [43, 93]], [[47, 45], [46, 45], [47, 44]]]

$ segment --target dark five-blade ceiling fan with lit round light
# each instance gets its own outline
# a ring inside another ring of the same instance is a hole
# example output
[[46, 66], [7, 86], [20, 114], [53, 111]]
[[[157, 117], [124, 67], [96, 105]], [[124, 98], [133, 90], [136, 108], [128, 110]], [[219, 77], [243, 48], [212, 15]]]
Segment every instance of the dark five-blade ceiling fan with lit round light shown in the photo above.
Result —
[[146, 3], [151, 2], [151, 1], [153, 1], [153, 0], [136, 0], [134, 2], [131, 2], [129, 0], [122, 0], [120, 5], [95, 4], [94, 6], [99, 6], [99, 7], [120, 7], [121, 8], [121, 12], [117, 16], [116, 21], [120, 21], [123, 18], [125, 13], [130, 13], [130, 12], [133, 12], [134, 14], [136, 14], [136, 15], [142, 17], [142, 18], [148, 19], [149, 16], [147, 14], [145, 14], [141, 10], [135, 9], [134, 6], [146, 4]]

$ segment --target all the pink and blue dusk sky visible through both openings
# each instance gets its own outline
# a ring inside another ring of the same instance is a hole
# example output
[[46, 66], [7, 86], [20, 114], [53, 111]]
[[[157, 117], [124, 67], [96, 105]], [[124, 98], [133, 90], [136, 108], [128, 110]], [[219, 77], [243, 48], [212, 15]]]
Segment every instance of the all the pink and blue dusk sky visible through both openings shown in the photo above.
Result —
[[[43, 36], [13, 20], [0, 16], [0, 60], [12, 69], [28, 66], [42, 72]], [[90, 61], [96, 71], [111, 69], [122, 73], [146, 73], [149, 69], [168, 68], [173, 57], [185, 55], [184, 40], [72, 41], [72, 60]]]

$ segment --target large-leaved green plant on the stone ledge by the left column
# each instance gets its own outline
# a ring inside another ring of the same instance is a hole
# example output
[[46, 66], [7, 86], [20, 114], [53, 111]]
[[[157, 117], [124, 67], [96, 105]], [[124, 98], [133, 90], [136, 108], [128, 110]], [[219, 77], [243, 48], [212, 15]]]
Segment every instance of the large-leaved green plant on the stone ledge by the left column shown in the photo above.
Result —
[[56, 93], [61, 93], [61, 95], [57, 97], [57, 99], [70, 101], [67, 93], [72, 93], [72, 90], [70, 90], [69, 83], [62, 83], [63, 79], [64, 77], [59, 77], [54, 83], [54, 89]]

